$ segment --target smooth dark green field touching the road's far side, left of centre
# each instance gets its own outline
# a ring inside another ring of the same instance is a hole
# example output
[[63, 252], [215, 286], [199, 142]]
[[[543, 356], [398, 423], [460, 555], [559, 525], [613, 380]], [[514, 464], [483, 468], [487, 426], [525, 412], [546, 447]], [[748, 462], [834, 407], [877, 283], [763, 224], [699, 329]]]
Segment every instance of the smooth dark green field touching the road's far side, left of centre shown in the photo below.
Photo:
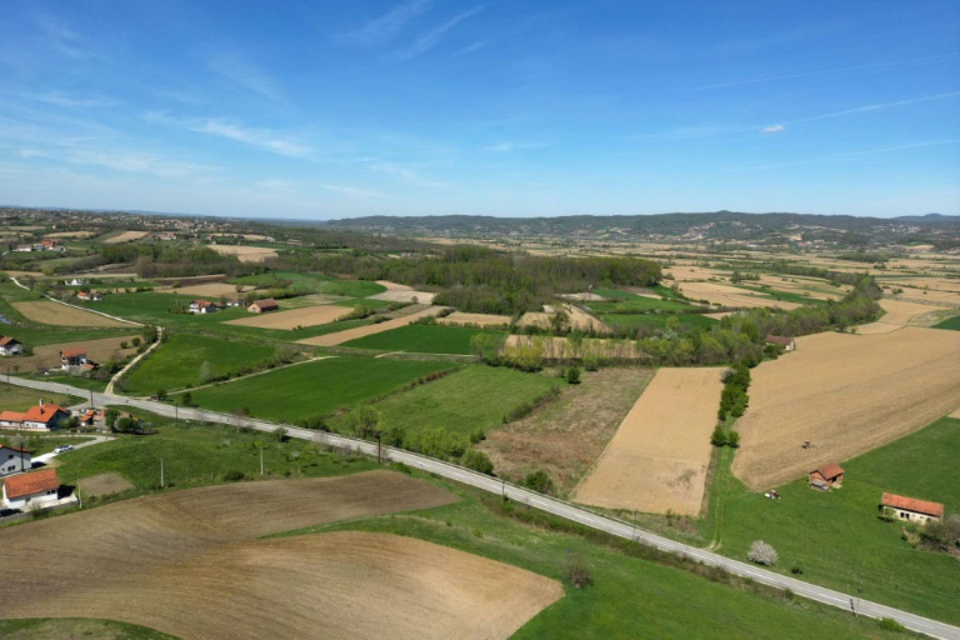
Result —
[[247, 408], [256, 417], [295, 423], [397, 391], [449, 367], [430, 361], [330, 358], [194, 391], [193, 401], [204, 409]]

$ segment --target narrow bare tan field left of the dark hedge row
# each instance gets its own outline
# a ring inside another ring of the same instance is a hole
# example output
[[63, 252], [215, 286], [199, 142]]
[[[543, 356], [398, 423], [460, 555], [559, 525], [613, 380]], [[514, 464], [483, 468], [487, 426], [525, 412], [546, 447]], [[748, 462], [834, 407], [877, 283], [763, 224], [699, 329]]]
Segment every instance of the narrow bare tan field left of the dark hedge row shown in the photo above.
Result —
[[704, 499], [722, 371], [660, 368], [572, 499], [611, 509], [696, 515]]

